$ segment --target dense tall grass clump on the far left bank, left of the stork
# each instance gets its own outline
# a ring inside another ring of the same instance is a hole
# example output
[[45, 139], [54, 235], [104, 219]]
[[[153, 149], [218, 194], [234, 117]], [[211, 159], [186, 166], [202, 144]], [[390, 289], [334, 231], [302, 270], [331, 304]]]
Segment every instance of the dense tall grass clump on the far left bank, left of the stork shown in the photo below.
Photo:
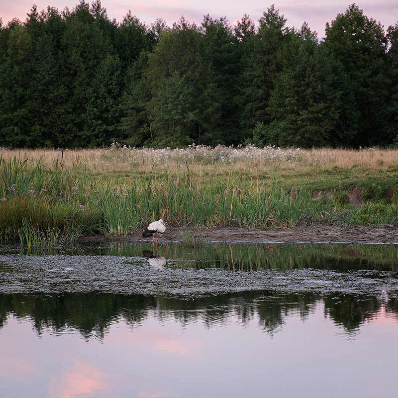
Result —
[[48, 246], [76, 240], [98, 228], [97, 205], [81, 193], [85, 177], [81, 162], [65, 169], [59, 164], [45, 167], [40, 160], [29, 164], [0, 157], [0, 239]]

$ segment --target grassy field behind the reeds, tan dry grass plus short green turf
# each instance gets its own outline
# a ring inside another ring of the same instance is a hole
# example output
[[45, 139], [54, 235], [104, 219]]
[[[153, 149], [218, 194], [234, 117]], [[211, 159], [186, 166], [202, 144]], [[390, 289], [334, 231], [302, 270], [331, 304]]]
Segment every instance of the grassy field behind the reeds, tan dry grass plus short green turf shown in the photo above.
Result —
[[167, 173], [188, 171], [201, 183], [218, 179], [267, 181], [278, 170], [282, 185], [313, 189], [347, 188], [367, 178], [383, 178], [398, 172], [398, 149], [280, 149], [209, 148], [137, 149], [112, 144], [108, 148], [80, 150], [3, 150], [2, 159], [14, 157], [53, 167], [72, 168], [83, 162], [95, 178], [128, 183], [129, 180], [164, 178]]

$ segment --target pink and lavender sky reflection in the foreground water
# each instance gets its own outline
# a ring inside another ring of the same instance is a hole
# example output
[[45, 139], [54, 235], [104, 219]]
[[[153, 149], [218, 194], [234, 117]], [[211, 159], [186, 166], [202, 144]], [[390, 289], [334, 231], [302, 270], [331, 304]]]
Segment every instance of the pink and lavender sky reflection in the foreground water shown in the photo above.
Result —
[[284, 314], [272, 332], [257, 314], [245, 323], [236, 315], [210, 324], [176, 319], [173, 310], [161, 320], [148, 311], [135, 326], [120, 317], [102, 341], [87, 341], [77, 331], [38, 338], [30, 320], [11, 315], [0, 329], [2, 391], [32, 398], [396, 397], [398, 322], [383, 309], [354, 334], [324, 315], [322, 301], [305, 318]]

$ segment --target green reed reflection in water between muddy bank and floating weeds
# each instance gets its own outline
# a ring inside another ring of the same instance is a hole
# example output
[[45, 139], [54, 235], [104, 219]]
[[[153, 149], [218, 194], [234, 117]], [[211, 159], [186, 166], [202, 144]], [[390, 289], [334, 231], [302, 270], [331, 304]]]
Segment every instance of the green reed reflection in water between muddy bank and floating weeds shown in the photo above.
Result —
[[[78, 249], [75, 247], [75, 253]], [[81, 246], [81, 254], [140, 257], [151, 252], [142, 243]], [[231, 270], [303, 269], [398, 270], [398, 245], [213, 243], [196, 249], [179, 243], [159, 245], [156, 256], [179, 267]]]

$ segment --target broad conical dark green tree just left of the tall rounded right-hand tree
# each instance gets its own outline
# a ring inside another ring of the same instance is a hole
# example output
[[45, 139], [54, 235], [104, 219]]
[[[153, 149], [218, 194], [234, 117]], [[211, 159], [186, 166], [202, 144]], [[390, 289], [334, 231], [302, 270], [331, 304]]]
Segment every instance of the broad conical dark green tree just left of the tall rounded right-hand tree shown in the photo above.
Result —
[[264, 143], [298, 147], [327, 146], [338, 119], [339, 93], [328, 58], [303, 25], [286, 46], [284, 69], [276, 80]]

